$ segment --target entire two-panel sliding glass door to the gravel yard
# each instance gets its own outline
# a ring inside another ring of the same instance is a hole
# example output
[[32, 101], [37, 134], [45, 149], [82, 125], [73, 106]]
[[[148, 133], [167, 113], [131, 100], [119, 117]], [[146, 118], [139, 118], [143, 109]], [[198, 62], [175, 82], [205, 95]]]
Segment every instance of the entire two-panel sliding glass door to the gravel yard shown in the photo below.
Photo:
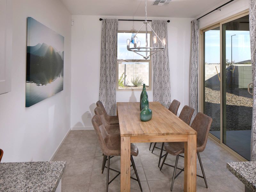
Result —
[[210, 133], [250, 160], [252, 63], [249, 16], [208, 28], [203, 40], [203, 108], [213, 119]]

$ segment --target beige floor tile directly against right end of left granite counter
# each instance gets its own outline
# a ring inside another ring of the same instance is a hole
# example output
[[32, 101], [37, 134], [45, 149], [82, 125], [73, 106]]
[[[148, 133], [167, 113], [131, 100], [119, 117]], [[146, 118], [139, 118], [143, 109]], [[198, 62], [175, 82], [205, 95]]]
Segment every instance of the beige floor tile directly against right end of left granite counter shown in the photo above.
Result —
[[61, 179], [62, 184], [90, 183], [92, 168], [66, 169]]

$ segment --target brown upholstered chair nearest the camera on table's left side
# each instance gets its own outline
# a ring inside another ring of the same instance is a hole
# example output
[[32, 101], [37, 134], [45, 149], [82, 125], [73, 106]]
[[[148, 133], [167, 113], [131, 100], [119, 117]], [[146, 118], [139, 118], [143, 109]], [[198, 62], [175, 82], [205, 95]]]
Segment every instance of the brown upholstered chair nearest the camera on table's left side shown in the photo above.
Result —
[[[99, 143], [100, 143], [100, 148], [104, 154], [104, 162], [102, 164], [102, 173], [104, 172], [104, 168], [107, 168], [107, 186], [106, 186], [106, 191], [108, 192], [108, 185], [116, 179], [118, 175], [120, 175], [119, 171], [116, 171], [112, 168], [109, 167], [110, 164], [110, 158], [113, 156], [121, 156], [121, 137], [120, 135], [110, 135], [105, 129], [104, 124], [101, 122], [101, 118], [98, 115], [93, 116], [92, 118], [92, 125], [95, 129], [95, 132], [97, 134]], [[134, 164], [134, 160], [132, 156], [138, 156], [139, 150], [137, 146], [133, 143], [131, 143], [131, 162], [132, 162], [132, 167], [135, 172], [136, 178], [132, 178], [133, 180], [138, 181], [140, 190], [142, 191], [141, 184], [140, 184], [140, 179]], [[108, 161], [108, 166], [106, 167], [106, 162]], [[115, 171], [118, 174], [109, 181], [109, 170]]]

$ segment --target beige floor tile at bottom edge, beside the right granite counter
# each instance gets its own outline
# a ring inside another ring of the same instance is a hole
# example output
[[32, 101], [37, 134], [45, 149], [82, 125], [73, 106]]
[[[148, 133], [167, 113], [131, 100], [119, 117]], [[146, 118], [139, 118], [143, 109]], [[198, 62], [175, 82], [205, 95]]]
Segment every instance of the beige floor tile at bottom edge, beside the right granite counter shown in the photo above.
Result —
[[221, 191], [221, 192], [242, 192], [229, 177], [214, 177], [207, 180], [207, 183], [212, 191]]

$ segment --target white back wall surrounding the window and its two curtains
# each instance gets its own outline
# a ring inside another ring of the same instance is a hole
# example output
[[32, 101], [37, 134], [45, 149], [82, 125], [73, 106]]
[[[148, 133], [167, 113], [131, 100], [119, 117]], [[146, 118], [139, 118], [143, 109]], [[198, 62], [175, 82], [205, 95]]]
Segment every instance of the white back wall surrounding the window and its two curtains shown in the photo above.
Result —
[[[85, 16], [72, 15], [72, 82], [71, 82], [71, 128], [92, 129], [91, 118], [99, 99], [100, 84], [100, 41], [99, 18], [144, 19], [142, 17]], [[188, 79], [190, 55], [191, 18], [148, 18], [171, 20], [168, 26], [168, 49], [170, 60], [172, 100], [188, 105]], [[141, 21], [119, 21], [118, 30], [139, 30]], [[116, 102], [139, 101], [140, 91], [117, 91]], [[153, 101], [153, 91], [148, 91]], [[179, 112], [180, 112], [179, 110]]]

